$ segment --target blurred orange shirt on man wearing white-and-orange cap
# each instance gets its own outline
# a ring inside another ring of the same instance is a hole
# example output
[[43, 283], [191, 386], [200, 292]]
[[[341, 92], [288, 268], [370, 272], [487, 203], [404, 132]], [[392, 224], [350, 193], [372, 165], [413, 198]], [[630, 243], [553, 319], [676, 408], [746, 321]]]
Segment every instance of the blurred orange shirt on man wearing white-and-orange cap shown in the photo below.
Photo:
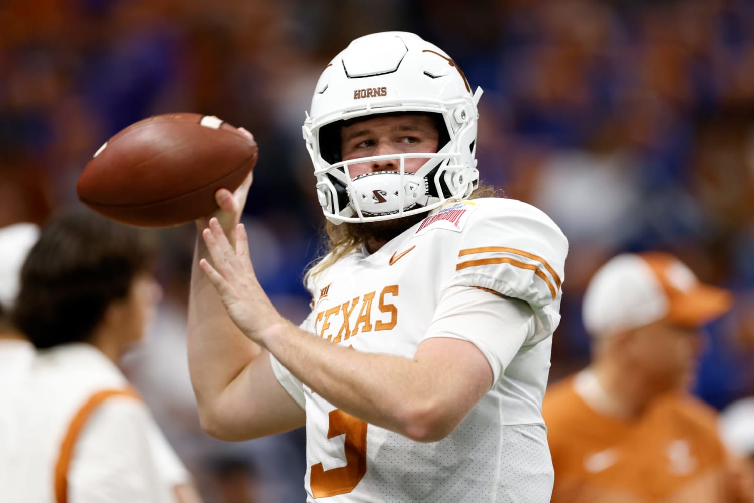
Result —
[[688, 394], [667, 394], [627, 422], [596, 413], [569, 378], [548, 388], [542, 412], [553, 503], [754, 501], [719, 440], [715, 411]]

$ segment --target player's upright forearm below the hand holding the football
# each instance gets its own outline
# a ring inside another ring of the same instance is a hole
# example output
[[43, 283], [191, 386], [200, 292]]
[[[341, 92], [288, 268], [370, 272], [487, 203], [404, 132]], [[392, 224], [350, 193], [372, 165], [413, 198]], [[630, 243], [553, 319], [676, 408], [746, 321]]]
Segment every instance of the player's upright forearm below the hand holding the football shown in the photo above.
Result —
[[198, 238], [189, 295], [189, 370], [200, 415], [212, 414], [223, 391], [260, 352], [235, 326], [198, 266], [207, 249]]

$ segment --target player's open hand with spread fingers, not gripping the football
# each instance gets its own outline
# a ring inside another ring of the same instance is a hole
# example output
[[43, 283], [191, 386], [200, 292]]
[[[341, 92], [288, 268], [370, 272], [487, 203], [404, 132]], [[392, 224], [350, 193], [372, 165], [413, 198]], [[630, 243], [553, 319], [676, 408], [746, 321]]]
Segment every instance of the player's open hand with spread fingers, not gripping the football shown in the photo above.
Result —
[[265, 330], [287, 322], [256, 279], [244, 224], [236, 226], [235, 235], [233, 247], [216, 217], [211, 218], [201, 237], [212, 263], [201, 259], [199, 266], [217, 290], [234, 324], [254, 342], [264, 345]]

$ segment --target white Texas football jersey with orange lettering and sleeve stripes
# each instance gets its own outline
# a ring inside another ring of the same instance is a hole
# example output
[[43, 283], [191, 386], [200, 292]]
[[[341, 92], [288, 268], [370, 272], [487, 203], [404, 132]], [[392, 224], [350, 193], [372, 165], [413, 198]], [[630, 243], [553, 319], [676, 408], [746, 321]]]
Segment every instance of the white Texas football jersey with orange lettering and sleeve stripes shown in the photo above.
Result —
[[[521, 299], [533, 321], [523, 344], [499, 357], [496, 370], [489, 357], [494, 344], [477, 336], [469, 314], [467, 330], [454, 335], [488, 356], [495, 382], [461, 425], [434, 443], [336, 409], [273, 357], [278, 380], [306, 412], [308, 501], [550, 501], [553, 469], [541, 402], [567, 250], [558, 226], [537, 208], [477, 199], [446, 204], [376, 253], [358, 250], [315, 276], [308, 285], [313, 308], [302, 328], [356, 351], [413, 357], [433, 336], [428, 329], [443, 293], [459, 286]], [[506, 337], [506, 327], [492, 336]]]

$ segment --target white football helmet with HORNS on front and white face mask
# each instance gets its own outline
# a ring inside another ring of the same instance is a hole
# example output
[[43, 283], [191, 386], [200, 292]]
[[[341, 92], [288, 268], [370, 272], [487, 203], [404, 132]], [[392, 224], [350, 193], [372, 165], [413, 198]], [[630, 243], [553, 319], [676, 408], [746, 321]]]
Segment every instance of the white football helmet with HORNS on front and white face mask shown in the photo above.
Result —
[[[479, 183], [477, 102], [455, 61], [409, 32], [356, 38], [326, 67], [303, 126], [314, 163], [317, 198], [335, 222], [369, 222], [423, 213], [449, 199], [466, 198]], [[342, 161], [339, 121], [375, 114], [425, 112], [440, 129], [437, 152], [378, 155]], [[351, 179], [351, 164], [400, 159], [396, 172]], [[429, 158], [404, 172], [406, 158]]]

